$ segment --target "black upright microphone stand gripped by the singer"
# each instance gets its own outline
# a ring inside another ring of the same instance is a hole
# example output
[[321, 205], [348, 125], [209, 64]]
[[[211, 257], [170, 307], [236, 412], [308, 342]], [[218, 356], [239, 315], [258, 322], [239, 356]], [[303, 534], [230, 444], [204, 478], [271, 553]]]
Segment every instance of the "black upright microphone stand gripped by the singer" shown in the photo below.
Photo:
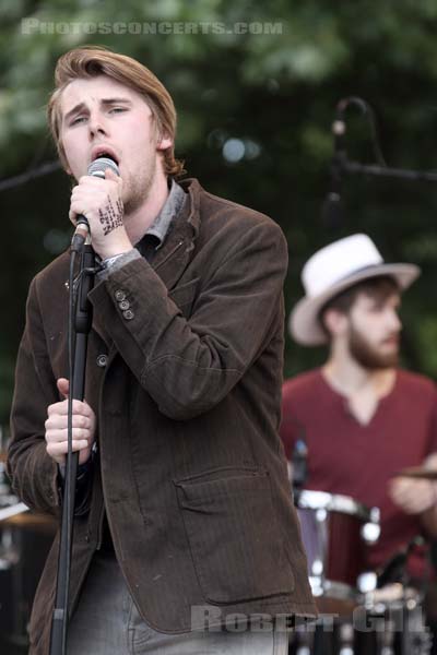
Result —
[[[80, 253], [78, 277], [72, 281], [75, 255]], [[87, 295], [94, 286], [95, 254], [91, 245], [72, 247], [70, 265], [70, 394], [69, 394], [69, 441], [71, 444], [71, 409], [73, 400], [83, 400], [85, 389], [85, 367], [87, 336], [93, 321], [92, 306]], [[76, 287], [78, 285], [78, 287]], [[74, 306], [75, 296], [75, 306]], [[50, 655], [64, 655], [67, 652], [69, 582], [73, 540], [74, 497], [79, 464], [79, 452], [67, 454], [63, 486], [62, 522], [59, 546], [58, 574], [55, 609], [50, 634]]]

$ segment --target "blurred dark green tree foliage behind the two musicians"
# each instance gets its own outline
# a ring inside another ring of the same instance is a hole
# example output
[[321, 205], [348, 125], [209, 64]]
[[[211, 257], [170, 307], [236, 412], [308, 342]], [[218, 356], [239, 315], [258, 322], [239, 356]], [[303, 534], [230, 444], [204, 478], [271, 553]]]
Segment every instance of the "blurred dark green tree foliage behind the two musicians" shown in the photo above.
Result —
[[[45, 105], [59, 55], [99, 44], [133, 56], [175, 98], [177, 151], [189, 175], [283, 227], [288, 309], [302, 296], [298, 275], [309, 254], [351, 233], [369, 234], [388, 260], [423, 267], [405, 297], [404, 358], [437, 374], [435, 186], [350, 177], [344, 216], [323, 221], [320, 213], [342, 97], [362, 96], [374, 107], [390, 165], [434, 168], [434, 0], [3, 0], [0, 24], [1, 179], [56, 158]], [[368, 123], [355, 108], [347, 112], [346, 144], [351, 158], [375, 160]], [[3, 422], [27, 286], [68, 243], [70, 186], [57, 171], [0, 192]], [[285, 373], [322, 357], [288, 340]]]

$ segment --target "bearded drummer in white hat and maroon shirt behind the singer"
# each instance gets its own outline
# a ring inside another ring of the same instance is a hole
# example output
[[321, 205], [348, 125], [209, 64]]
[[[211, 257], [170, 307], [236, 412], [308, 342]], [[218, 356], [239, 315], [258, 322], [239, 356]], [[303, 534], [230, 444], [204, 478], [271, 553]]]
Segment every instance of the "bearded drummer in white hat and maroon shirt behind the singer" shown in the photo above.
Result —
[[[401, 294], [418, 274], [413, 264], [385, 263], [367, 236], [353, 235], [308, 260], [306, 296], [290, 320], [298, 343], [327, 344], [329, 356], [321, 368], [284, 383], [285, 450], [292, 458], [303, 436], [307, 489], [379, 508], [380, 537], [366, 562], [373, 570], [416, 535], [437, 532], [436, 484], [398, 475], [434, 466], [437, 451], [435, 385], [398, 366]], [[424, 579], [423, 551], [412, 552], [408, 572]]]

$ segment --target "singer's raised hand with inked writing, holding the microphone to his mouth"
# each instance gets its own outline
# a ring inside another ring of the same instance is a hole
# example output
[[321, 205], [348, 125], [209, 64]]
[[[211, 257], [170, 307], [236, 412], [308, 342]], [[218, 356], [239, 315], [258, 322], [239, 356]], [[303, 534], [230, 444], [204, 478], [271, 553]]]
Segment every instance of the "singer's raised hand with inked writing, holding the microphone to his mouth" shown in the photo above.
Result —
[[99, 157], [71, 193], [70, 221], [76, 225], [72, 250], [81, 250], [88, 234], [93, 249], [107, 259], [132, 249], [123, 225], [122, 180], [115, 162]]

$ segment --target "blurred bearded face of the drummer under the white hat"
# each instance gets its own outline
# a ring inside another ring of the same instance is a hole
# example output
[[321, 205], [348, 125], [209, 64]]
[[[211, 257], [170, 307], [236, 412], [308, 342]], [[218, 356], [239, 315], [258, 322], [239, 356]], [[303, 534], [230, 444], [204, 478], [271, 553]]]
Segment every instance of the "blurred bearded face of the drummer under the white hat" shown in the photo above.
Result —
[[383, 369], [399, 362], [402, 329], [398, 317], [400, 295], [382, 299], [359, 294], [349, 313], [347, 345], [352, 357], [366, 369]]

